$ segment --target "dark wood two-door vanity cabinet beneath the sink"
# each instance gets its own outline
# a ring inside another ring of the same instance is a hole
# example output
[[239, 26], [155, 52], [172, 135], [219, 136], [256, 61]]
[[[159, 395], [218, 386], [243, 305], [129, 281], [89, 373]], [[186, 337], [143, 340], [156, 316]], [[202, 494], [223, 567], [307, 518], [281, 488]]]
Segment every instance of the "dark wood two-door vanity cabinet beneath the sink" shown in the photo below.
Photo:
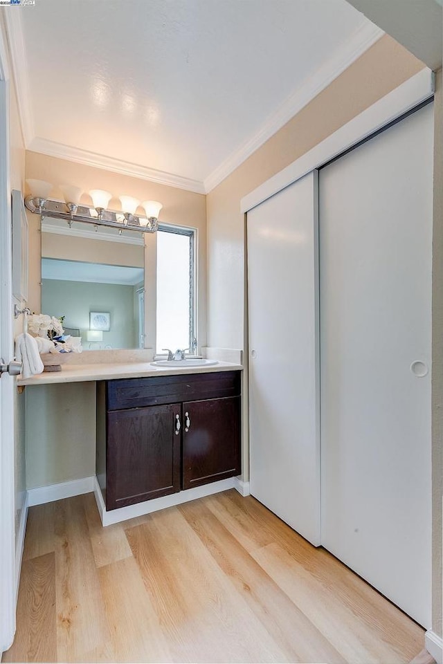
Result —
[[233, 477], [240, 372], [97, 383], [97, 477], [107, 510]]

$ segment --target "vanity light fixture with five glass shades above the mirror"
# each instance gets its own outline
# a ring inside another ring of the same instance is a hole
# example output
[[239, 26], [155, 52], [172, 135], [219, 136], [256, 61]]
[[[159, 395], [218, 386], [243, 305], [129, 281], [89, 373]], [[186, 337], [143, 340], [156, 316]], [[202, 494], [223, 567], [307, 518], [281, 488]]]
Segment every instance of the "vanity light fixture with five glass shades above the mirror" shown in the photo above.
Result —
[[163, 205], [158, 201], [145, 201], [141, 203], [145, 208], [146, 216], [136, 215], [140, 201], [133, 196], [120, 196], [121, 212], [108, 210], [107, 205], [113, 194], [101, 189], [89, 192], [91, 205], [81, 205], [82, 190], [74, 185], [57, 185], [63, 194], [63, 201], [49, 199], [48, 196], [54, 185], [43, 180], [26, 180], [30, 189], [30, 196], [26, 196], [25, 205], [28, 210], [42, 216], [55, 219], [65, 219], [69, 227], [75, 221], [92, 223], [96, 230], [98, 226], [116, 228], [121, 234], [123, 230], [137, 230], [143, 233], [154, 233], [159, 228], [159, 212]]

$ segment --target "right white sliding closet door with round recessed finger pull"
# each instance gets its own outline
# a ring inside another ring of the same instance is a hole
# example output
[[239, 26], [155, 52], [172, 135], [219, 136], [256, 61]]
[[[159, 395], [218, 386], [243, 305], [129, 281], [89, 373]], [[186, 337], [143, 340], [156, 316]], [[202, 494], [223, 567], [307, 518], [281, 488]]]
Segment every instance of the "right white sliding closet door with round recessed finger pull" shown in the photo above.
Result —
[[319, 192], [321, 541], [430, 627], [432, 105]]

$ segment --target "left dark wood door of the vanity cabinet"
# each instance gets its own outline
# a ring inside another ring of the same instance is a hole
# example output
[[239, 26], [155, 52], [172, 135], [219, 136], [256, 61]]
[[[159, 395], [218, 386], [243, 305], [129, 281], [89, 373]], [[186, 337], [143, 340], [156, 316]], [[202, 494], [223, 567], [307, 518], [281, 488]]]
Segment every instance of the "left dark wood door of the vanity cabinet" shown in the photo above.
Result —
[[180, 490], [181, 404], [107, 413], [106, 508]]

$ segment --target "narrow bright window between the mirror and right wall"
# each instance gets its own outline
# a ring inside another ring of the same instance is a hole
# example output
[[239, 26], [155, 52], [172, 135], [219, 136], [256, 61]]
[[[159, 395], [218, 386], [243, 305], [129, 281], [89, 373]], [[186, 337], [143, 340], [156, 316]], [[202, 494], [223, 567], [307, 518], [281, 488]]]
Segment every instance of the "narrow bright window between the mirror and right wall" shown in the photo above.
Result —
[[195, 233], [161, 228], [157, 232], [157, 354], [186, 349], [195, 354]]

